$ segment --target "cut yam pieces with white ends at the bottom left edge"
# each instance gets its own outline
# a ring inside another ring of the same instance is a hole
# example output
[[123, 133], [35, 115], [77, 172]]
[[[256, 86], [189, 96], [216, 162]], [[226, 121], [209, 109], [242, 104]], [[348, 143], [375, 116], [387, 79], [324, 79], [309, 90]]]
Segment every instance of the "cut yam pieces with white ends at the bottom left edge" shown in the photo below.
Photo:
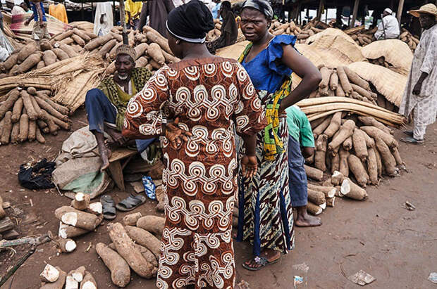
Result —
[[97, 289], [97, 282], [92, 274], [80, 266], [78, 269], [66, 273], [59, 266], [47, 264], [39, 274], [41, 289]]

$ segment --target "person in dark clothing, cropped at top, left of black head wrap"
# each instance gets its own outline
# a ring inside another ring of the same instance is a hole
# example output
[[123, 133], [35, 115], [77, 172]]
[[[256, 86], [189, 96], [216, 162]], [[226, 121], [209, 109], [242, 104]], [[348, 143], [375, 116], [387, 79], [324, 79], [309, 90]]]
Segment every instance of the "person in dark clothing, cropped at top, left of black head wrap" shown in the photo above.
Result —
[[167, 16], [174, 8], [171, 0], [145, 1], [141, 11], [140, 30], [146, 25], [149, 16], [149, 26], [167, 38]]

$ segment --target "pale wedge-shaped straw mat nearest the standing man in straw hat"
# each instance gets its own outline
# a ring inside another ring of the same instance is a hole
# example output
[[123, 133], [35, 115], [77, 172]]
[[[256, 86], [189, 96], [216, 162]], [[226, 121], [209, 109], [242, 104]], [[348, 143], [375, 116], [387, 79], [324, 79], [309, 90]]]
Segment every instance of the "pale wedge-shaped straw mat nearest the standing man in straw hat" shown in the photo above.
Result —
[[367, 62], [351, 63], [347, 67], [356, 72], [360, 77], [374, 84], [380, 94], [385, 96], [390, 103], [399, 107], [405, 85], [407, 85], [407, 77], [405, 75]]

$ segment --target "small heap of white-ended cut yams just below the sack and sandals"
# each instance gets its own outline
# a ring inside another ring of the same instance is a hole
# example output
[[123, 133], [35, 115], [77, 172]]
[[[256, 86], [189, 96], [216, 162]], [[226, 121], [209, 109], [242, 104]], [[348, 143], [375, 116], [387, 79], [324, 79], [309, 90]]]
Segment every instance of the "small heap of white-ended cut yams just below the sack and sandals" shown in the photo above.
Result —
[[90, 203], [90, 195], [86, 193], [76, 193], [70, 206], [59, 207], [54, 214], [59, 219], [59, 231], [52, 240], [61, 252], [72, 252], [73, 238], [94, 231], [103, 221], [101, 203]]

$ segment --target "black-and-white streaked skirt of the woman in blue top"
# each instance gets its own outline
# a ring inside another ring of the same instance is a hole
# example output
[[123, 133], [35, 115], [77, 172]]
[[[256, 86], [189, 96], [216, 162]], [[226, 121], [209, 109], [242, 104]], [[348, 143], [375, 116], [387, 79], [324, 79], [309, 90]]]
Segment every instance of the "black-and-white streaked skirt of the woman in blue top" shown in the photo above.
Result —
[[[239, 192], [238, 240], [249, 240], [254, 256], [269, 248], [286, 254], [294, 248], [293, 207], [288, 186], [288, 151], [274, 161], [263, 161], [265, 131], [257, 134], [259, 172], [251, 180], [242, 179]], [[280, 119], [278, 135], [288, 147], [285, 118]], [[240, 155], [244, 148], [240, 146]], [[284, 173], [285, 172], [285, 173]], [[244, 202], [242, 201], [244, 200]]]

